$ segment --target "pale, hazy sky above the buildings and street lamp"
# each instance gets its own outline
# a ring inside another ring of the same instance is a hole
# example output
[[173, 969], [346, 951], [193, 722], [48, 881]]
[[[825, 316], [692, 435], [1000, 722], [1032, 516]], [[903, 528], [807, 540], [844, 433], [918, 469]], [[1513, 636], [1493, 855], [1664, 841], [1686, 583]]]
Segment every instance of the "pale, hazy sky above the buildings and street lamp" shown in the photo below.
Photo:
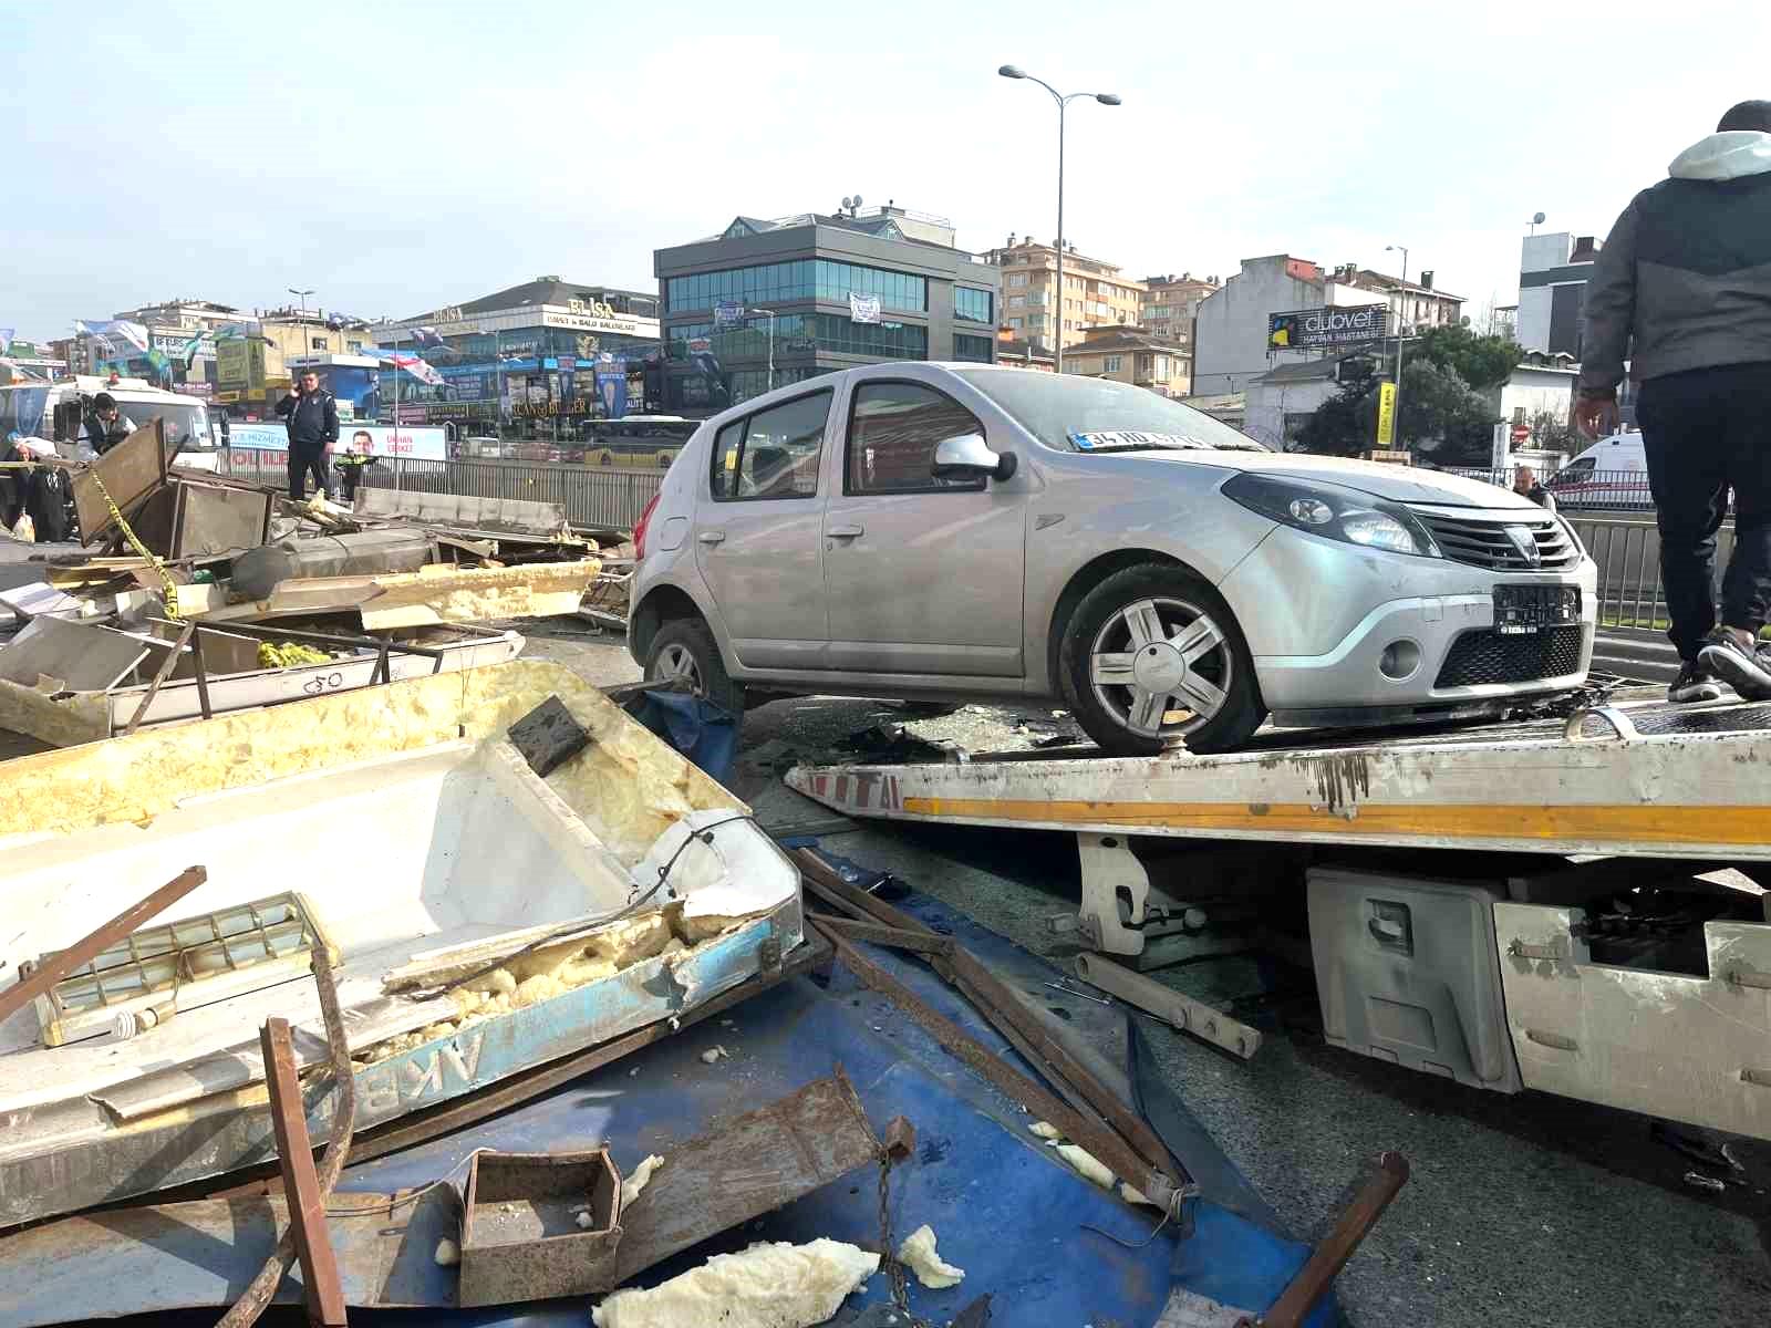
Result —
[[[78, 9], [78, 16], [73, 11]], [[67, 11], [66, 14], [62, 11]], [[1771, 4], [239, 4], [0, 0], [0, 328], [174, 296], [407, 317], [845, 195], [1130, 276], [1357, 262], [1511, 305], [1520, 239], [1603, 235], [1746, 97]]]

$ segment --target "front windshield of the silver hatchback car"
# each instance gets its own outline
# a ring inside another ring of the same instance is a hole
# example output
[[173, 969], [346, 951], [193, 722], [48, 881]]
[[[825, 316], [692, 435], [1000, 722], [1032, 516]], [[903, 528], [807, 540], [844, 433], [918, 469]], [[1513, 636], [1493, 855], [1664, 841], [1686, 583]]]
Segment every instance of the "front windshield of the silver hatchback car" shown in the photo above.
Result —
[[1247, 434], [1149, 388], [1025, 368], [955, 372], [1061, 452], [1266, 452]]

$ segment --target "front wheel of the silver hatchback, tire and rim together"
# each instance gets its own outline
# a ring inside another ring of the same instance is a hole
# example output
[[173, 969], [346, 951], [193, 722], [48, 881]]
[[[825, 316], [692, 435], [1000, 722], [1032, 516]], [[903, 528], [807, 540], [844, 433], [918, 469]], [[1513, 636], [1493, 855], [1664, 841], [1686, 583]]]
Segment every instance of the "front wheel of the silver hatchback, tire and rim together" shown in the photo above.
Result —
[[1181, 742], [1234, 751], [1266, 719], [1229, 606], [1176, 567], [1128, 567], [1091, 590], [1064, 629], [1059, 671], [1077, 722], [1116, 756]]

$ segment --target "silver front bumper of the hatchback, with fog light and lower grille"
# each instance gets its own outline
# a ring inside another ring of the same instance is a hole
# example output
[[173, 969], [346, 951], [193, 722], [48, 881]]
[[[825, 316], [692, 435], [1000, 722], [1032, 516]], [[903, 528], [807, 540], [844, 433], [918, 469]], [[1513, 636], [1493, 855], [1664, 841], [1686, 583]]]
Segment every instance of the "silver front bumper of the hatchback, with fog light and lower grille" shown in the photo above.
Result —
[[[1574, 586], [1580, 622], [1502, 636], [1496, 586]], [[1566, 572], [1489, 572], [1280, 529], [1222, 590], [1243, 623], [1261, 698], [1277, 722], [1454, 717], [1576, 687], [1592, 660], [1597, 568], [1590, 558]], [[1307, 653], [1293, 653], [1296, 646]]]

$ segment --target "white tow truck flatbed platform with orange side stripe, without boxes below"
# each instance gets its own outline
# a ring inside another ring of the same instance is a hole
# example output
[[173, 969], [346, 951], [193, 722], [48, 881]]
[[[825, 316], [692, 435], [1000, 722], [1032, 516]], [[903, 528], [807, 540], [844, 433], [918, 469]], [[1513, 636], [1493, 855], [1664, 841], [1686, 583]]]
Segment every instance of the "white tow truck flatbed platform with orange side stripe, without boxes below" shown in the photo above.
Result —
[[1771, 705], [1647, 689], [1567, 719], [1272, 733], [1224, 756], [799, 767], [786, 783], [847, 816], [946, 825], [1771, 861]]

